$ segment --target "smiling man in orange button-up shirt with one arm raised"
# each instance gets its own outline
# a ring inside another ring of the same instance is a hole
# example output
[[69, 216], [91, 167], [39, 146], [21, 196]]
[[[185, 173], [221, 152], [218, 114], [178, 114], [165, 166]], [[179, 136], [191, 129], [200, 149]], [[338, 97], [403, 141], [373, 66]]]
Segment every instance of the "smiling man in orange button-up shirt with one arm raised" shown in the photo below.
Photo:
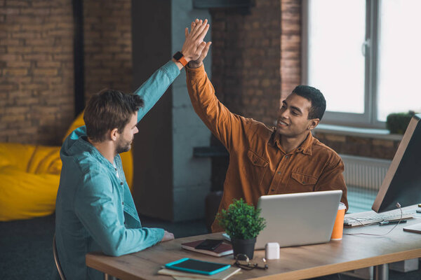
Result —
[[[205, 22], [192, 22], [202, 25]], [[202, 43], [205, 44], [205, 43]], [[276, 127], [267, 128], [251, 118], [231, 113], [215, 97], [201, 57], [186, 67], [187, 89], [197, 115], [229, 152], [229, 167], [218, 212], [234, 198], [256, 205], [261, 195], [342, 190], [347, 187], [340, 156], [312, 136], [326, 109], [323, 94], [314, 87], [299, 85], [282, 102]], [[309, 209], [311, 211], [311, 209]], [[222, 231], [216, 221], [212, 231]]]

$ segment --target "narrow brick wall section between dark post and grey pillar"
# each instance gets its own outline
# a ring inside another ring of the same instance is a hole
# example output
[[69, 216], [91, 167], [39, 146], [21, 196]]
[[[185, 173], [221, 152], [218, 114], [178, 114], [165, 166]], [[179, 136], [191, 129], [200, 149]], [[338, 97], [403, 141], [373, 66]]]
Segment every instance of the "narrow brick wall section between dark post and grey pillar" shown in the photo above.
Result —
[[86, 100], [132, 90], [131, 0], [83, 1]]

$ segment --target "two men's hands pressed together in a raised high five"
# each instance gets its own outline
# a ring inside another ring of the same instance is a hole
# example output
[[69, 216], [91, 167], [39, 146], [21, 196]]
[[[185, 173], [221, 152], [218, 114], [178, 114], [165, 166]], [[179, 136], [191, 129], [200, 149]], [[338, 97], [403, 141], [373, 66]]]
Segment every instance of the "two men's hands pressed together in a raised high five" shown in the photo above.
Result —
[[208, 20], [198, 20], [196, 19], [192, 22], [192, 25], [189, 29], [185, 29], [185, 43], [182, 45], [181, 52], [185, 56], [187, 62], [189, 62], [189, 67], [197, 68], [203, 63], [203, 59], [208, 54], [210, 44], [212, 42], [204, 42], [206, 33], [208, 33], [209, 25]]

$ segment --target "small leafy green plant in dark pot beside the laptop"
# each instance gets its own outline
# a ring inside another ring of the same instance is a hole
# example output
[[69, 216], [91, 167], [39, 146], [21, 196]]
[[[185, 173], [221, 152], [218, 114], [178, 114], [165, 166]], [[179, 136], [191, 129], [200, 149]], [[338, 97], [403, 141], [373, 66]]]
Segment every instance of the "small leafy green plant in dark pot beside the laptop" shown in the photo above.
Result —
[[216, 219], [231, 238], [234, 258], [242, 253], [253, 259], [256, 237], [265, 226], [265, 218], [260, 217], [260, 209], [248, 205], [241, 198], [233, 200], [228, 209], [222, 209]]

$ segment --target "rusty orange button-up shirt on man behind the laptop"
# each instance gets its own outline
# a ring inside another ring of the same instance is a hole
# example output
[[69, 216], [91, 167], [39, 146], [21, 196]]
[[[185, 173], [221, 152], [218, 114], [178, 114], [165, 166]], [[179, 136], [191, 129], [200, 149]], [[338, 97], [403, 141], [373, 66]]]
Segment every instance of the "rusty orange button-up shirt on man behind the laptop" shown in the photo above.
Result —
[[[229, 152], [229, 166], [218, 212], [234, 198], [257, 205], [262, 195], [342, 190], [347, 202], [344, 165], [340, 156], [309, 133], [307, 139], [285, 153], [275, 127], [231, 113], [215, 97], [203, 65], [186, 68], [187, 89], [194, 111]], [[311, 211], [311, 209], [309, 209]], [[217, 221], [213, 232], [222, 231]]]

